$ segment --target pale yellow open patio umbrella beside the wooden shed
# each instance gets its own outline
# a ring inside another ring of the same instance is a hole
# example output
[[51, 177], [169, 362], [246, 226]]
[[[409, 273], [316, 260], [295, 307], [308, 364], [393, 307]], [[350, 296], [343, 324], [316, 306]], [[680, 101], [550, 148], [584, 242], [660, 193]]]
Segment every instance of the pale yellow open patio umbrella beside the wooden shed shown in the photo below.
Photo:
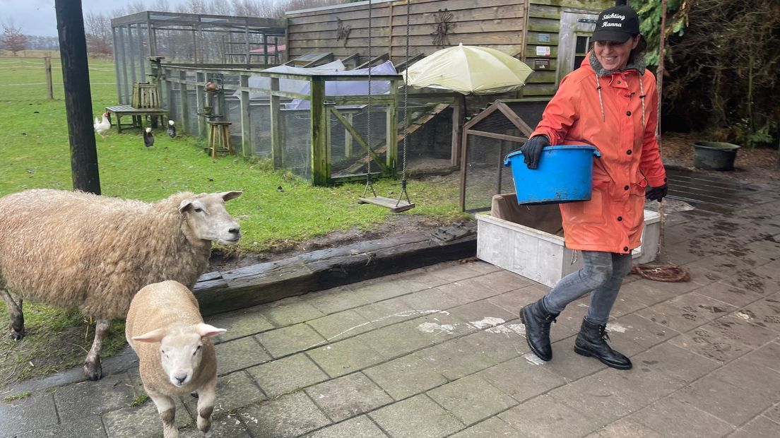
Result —
[[533, 70], [502, 51], [460, 44], [435, 51], [402, 75], [415, 88], [433, 87], [463, 94], [494, 94], [519, 90]]

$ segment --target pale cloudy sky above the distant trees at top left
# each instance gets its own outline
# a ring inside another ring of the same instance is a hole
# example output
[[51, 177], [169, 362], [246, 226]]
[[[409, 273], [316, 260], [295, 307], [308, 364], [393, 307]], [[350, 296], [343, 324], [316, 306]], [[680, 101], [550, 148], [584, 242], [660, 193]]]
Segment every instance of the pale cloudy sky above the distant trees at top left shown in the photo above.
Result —
[[[57, 16], [54, 2], [55, 0], [0, 0], [0, 26], [12, 19], [13, 25], [20, 28], [23, 34], [56, 37]], [[184, 0], [168, 0], [168, 5], [175, 8], [183, 2]], [[81, 0], [81, 9], [84, 14], [108, 14], [122, 4], [123, 2], [116, 0]]]

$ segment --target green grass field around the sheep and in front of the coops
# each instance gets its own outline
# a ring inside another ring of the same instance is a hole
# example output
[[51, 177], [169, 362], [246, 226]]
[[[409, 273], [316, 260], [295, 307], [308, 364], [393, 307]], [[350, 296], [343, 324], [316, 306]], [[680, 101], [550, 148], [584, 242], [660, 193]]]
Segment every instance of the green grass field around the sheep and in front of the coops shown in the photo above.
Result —
[[[43, 59], [0, 58], [0, 196], [33, 188], [73, 189], [61, 65], [58, 59], [52, 64], [55, 99], [50, 101]], [[111, 62], [90, 60], [90, 84], [92, 95], [84, 98], [91, 99], [95, 115], [117, 103]], [[243, 231], [241, 242], [230, 248], [239, 255], [271, 251], [333, 231], [370, 229], [390, 215], [381, 207], [356, 203], [363, 184], [313, 187], [263, 161], [213, 160], [194, 137], [170, 139], [161, 130], [154, 147], [146, 148], [137, 130], [118, 134], [112, 129], [105, 140], [96, 135], [96, 142], [105, 196], [151, 202], [180, 191], [243, 190], [243, 196], [227, 204]], [[391, 193], [399, 189], [392, 180], [374, 186], [380, 196], [393, 197]], [[456, 185], [411, 181], [409, 187], [417, 208], [404, 214], [443, 221], [462, 217]], [[13, 342], [5, 334], [8, 314], [2, 303], [0, 307], [0, 387], [79, 365], [86, 355], [94, 333], [89, 316], [26, 302], [28, 336]], [[121, 322], [112, 325], [111, 336], [105, 355], [124, 345]]]

